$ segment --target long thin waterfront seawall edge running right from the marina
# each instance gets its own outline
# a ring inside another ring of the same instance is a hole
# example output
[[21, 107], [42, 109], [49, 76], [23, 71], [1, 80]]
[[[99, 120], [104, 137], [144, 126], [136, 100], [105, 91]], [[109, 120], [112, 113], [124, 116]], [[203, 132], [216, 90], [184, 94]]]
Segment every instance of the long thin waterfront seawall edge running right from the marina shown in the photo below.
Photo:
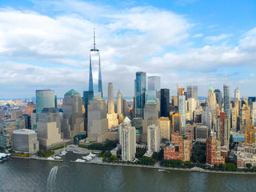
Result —
[[70, 161], [72, 163], [82, 163], [82, 164], [91, 164], [98, 166], [132, 166], [132, 167], [140, 167], [140, 168], [150, 168], [156, 170], [178, 170], [178, 171], [189, 171], [189, 172], [198, 172], [198, 173], [210, 173], [210, 174], [252, 174], [256, 175], [256, 172], [240, 172], [240, 171], [222, 171], [222, 170], [204, 170], [202, 168], [193, 169], [193, 168], [174, 168], [174, 167], [166, 167], [166, 166], [146, 166], [146, 165], [133, 165], [133, 164], [122, 164], [122, 163], [111, 163], [111, 162], [75, 162]]

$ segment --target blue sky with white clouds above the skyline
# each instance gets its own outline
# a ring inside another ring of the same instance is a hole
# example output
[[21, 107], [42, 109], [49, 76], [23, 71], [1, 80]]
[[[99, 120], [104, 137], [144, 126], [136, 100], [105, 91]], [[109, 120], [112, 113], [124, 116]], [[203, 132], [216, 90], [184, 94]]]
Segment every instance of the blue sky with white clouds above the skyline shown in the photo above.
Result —
[[136, 71], [162, 88], [239, 88], [256, 96], [256, 1], [0, 0], [0, 98], [88, 90], [96, 30], [103, 95], [134, 96]]

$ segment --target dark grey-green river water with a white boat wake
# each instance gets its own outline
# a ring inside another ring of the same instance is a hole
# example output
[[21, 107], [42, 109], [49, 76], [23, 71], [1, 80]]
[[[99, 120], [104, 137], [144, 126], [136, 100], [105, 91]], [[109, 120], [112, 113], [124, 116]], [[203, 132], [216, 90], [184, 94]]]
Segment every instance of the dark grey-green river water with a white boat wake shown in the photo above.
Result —
[[256, 175], [71, 163], [13, 158], [0, 163], [0, 191], [256, 191]]

